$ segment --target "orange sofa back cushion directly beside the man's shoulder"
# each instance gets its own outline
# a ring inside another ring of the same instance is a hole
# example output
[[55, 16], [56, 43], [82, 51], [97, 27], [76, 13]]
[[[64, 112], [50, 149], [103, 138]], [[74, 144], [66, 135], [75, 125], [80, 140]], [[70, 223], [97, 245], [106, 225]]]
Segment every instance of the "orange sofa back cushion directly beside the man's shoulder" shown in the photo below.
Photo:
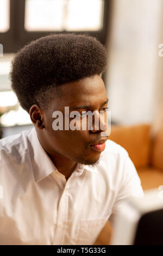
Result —
[[125, 148], [136, 168], [148, 166], [150, 125], [111, 126], [109, 139]]

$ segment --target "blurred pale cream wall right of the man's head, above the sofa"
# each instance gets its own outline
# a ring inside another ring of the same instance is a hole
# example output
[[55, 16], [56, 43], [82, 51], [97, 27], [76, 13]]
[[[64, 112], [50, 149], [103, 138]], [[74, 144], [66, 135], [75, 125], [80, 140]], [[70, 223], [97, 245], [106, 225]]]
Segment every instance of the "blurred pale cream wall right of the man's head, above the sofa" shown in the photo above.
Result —
[[112, 118], [151, 123], [162, 101], [162, 0], [112, 1], [106, 85]]

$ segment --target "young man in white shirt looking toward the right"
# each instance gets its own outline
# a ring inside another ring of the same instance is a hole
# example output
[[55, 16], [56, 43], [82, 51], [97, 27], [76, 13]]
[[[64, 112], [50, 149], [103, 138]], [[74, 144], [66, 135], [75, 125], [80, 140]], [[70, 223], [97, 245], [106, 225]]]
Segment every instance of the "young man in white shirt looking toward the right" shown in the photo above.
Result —
[[2, 245], [92, 245], [123, 200], [143, 196], [127, 151], [108, 139], [105, 118], [105, 129], [95, 119], [91, 130], [65, 129], [72, 121], [65, 107], [78, 111], [77, 126], [87, 111], [98, 121], [106, 113], [105, 69], [104, 46], [87, 35], [48, 35], [16, 54], [12, 89], [34, 127], [0, 141]]

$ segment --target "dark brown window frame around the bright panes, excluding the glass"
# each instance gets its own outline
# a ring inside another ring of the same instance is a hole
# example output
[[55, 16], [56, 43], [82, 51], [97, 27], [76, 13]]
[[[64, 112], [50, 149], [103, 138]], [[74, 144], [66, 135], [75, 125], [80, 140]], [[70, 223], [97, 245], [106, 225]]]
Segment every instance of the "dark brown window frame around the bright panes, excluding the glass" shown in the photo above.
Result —
[[[110, 13], [111, 13], [111, 0], [104, 1], [104, 14], [103, 14], [103, 27], [99, 31], [26, 31], [24, 29], [24, 14], [25, 14], [25, 2], [26, 0], [10, 0], [10, 28], [7, 32], [0, 32], [0, 43], [3, 45], [4, 53], [17, 52], [21, 47], [32, 40], [40, 38], [51, 33], [89, 33], [95, 36], [106, 44]], [[106, 33], [107, 32], [107, 33]]]

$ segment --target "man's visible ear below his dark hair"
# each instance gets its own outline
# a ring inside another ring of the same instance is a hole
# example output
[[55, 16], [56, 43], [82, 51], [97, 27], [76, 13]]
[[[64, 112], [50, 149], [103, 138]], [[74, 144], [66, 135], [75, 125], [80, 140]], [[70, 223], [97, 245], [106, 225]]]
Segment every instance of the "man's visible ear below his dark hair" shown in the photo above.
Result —
[[30, 107], [29, 115], [32, 123], [37, 128], [41, 130], [45, 128], [45, 125], [43, 124], [43, 111], [38, 105], [34, 104], [32, 107]]

